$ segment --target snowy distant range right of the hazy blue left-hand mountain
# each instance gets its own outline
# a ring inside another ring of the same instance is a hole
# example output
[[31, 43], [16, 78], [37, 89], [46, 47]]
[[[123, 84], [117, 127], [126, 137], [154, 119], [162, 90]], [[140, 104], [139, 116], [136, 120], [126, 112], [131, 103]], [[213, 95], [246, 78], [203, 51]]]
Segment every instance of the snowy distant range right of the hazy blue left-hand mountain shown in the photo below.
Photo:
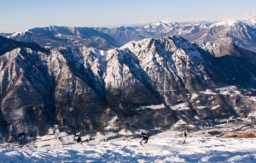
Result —
[[143, 38], [160, 38], [179, 35], [198, 43], [215, 56], [226, 54], [225, 48], [235, 45], [256, 52], [256, 28], [252, 19], [224, 20], [216, 23], [158, 22], [140, 27], [119, 27], [101, 30], [120, 43]]

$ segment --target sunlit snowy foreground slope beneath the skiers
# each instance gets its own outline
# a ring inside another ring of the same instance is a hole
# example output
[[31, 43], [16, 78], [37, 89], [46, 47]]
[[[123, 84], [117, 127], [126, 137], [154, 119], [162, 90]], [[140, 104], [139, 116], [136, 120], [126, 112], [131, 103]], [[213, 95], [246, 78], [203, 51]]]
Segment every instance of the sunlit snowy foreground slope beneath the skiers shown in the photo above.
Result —
[[0, 162], [256, 162], [256, 138], [180, 139], [152, 136], [143, 146], [134, 138], [0, 149]]

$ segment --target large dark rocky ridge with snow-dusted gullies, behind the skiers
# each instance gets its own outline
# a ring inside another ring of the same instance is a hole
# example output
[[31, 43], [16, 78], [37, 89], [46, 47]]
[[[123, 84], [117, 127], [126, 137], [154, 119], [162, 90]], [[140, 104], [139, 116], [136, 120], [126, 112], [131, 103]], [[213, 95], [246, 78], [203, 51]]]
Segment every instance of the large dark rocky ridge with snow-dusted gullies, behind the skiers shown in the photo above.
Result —
[[[8, 40], [1, 48], [0, 136], [6, 140], [45, 134], [55, 124], [66, 132], [158, 131], [255, 115], [255, 59], [243, 57], [241, 48], [233, 49], [238, 56], [215, 58], [177, 36], [108, 51], [20, 43]], [[119, 121], [113, 126], [113, 120]]]

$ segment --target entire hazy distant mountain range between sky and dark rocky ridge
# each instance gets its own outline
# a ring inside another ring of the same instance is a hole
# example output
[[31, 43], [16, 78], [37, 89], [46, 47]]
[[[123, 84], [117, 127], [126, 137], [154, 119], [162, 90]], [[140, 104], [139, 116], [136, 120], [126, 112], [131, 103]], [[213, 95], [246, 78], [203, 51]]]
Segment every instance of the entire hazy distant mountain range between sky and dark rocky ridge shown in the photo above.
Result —
[[[227, 54], [230, 46], [256, 52], [255, 14], [247, 14], [236, 20], [220, 22], [156, 22], [142, 26], [116, 28], [88, 28], [49, 26], [34, 28], [13, 34], [1, 34], [22, 42], [35, 42], [44, 48], [79, 48], [82, 46], [118, 48], [127, 42], [145, 38], [179, 35], [196, 42], [215, 56]], [[228, 52], [229, 53], [229, 52]]]

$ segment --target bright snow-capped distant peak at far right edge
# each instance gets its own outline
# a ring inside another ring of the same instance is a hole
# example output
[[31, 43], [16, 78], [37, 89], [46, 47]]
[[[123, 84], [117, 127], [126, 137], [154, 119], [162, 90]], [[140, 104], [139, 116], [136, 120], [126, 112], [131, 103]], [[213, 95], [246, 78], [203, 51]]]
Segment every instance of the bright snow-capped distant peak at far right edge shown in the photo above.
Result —
[[241, 20], [225, 20], [210, 25], [193, 39], [216, 56], [225, 55], [230, 45], [256, 52], [256, 28]]

